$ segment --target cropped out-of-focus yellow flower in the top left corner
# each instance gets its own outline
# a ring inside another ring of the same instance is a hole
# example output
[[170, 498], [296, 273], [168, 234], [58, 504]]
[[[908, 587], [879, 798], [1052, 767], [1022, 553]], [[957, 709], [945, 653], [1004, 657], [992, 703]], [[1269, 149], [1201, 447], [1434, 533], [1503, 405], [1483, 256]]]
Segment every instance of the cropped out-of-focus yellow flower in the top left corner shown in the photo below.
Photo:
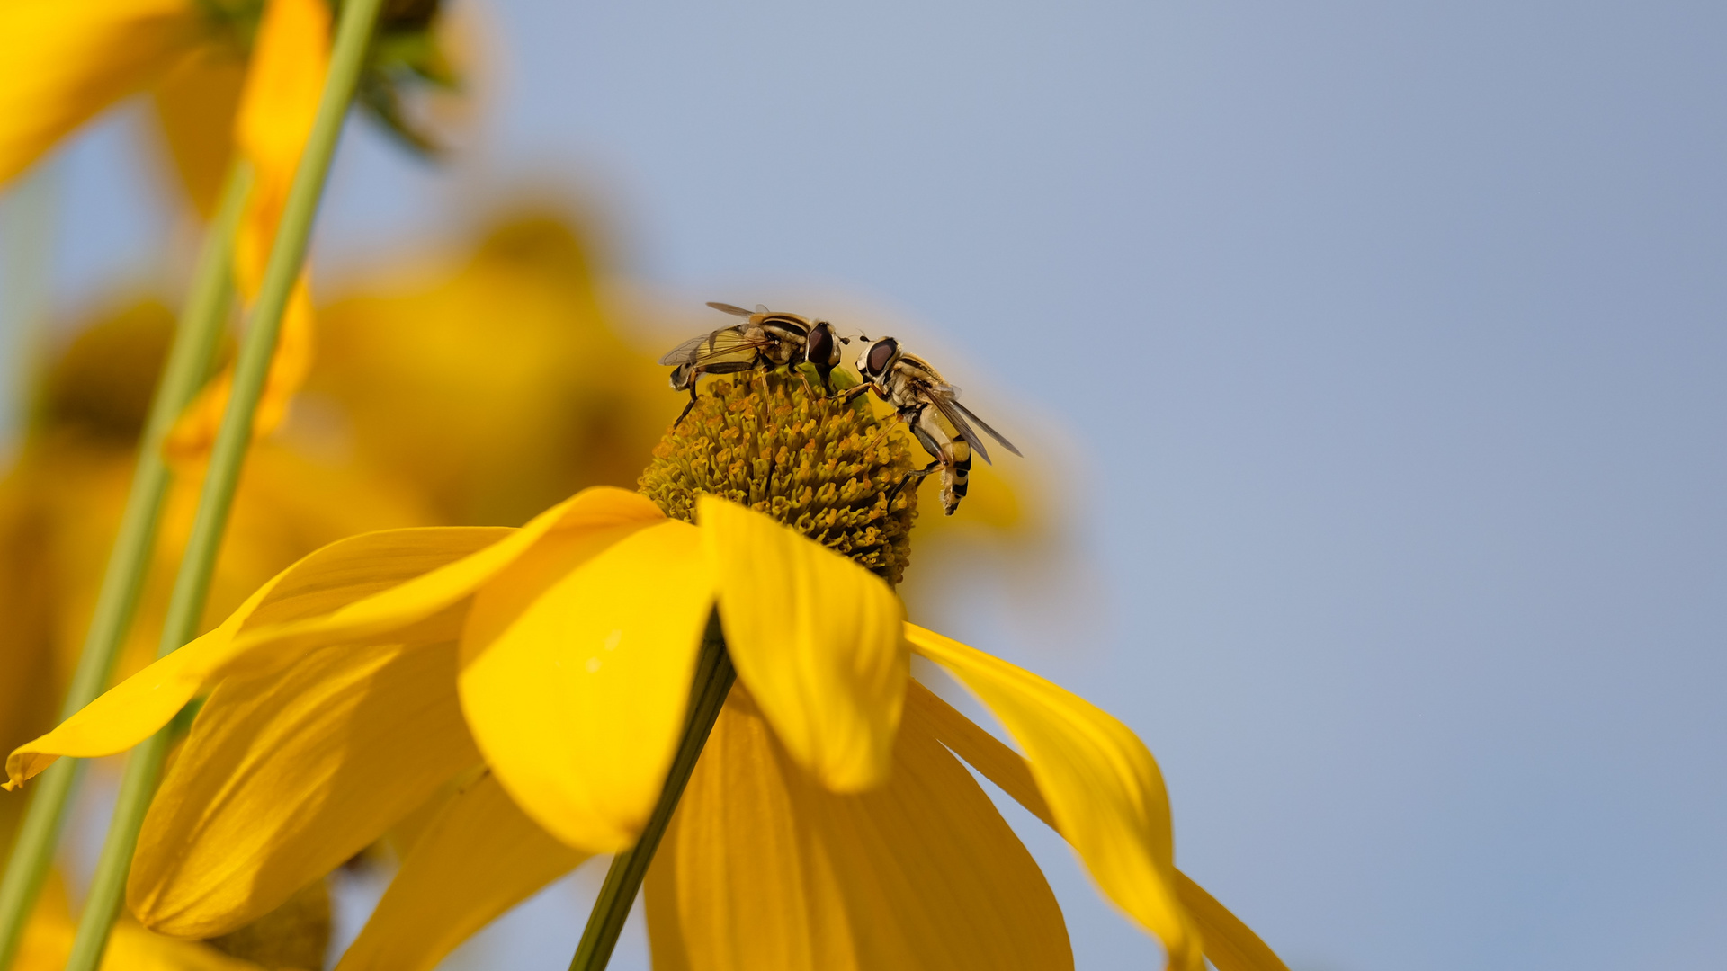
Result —
[[[435, 14], [435, 2], [392, 7], [361, 83], [361, 104], [416, 145], [427, 142], [402, 117], [397, 88], [413, 78], [449, 83], [428, 40]], [[242, 57], [249, 57], [244, 90], [233, 95]], [[328, 0], [7, 0], [0, 3], [0, 183], [112, 102], [159, 86], [171, 155], [193, 202], [207, 213], [212, 175], [226, 168], [228, 114], [237, 112], [233, 147], [250, 162], [254, 181], [235, 240], [233, 276], [250, 304], [311, 135], [328, 60]], [[263, 437], [282, 423], [311, 359], [311, 287], [300, 273], [254, 434]], [[225, 371], [193, 401], [169, 435], [169, 454], [197, 461], [209, 451], [230, 382]]]

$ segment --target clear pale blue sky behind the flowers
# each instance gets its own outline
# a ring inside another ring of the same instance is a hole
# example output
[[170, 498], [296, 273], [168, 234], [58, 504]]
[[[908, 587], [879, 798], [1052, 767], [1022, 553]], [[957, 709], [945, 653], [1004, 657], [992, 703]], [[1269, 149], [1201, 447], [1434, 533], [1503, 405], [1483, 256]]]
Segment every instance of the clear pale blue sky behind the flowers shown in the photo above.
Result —
[[[558, 183], [651, 285], [915, 320], [1060, 430], [1097, 605], [943, 622], [1140, 731], [1292, 966], [1727, 954], [1727, 9], [478, 14], [485, 147], [351, 138], [326, 266]], [[128, 124], [52, 173], [57, 306], [171, 263]], [[1081, 968], [1145, 961], [1033, 841]]]

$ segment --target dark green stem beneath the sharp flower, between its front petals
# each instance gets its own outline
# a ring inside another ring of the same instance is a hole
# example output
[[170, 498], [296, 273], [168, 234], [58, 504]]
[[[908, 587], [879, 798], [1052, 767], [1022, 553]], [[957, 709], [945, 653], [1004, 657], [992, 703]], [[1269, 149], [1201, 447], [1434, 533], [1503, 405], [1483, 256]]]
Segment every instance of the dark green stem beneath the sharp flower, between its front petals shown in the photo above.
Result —
[[630, 916], [636, 893], [641, 892], [648, 876], [648, 864], [653, 862], [660, 838], [672, 822], [677, 800], [684, 795], [696, 760], [701, 758], [701, 746], [708, 743], [708, 733], [725, 707], [725, 696], [732, 689], [737, 672], [732, 670], [732, 657], [725, 653], [725, 634], [720, 632], [720, 615], [708, 619], [708, 632], [701, 639], [701, 655], [696, 658], [696, 679], [689, 691], [689, 720], [684, 724], [684, 738], [677, 743], [677, 755], [672, 757], [672, 771], [665, 776], [665, 788], [660, 790], [660, 802], [648, 816], [648, 826], [634, 847], [611, 857], [611, 869], [606, 881], [599, 885], [599, 898], [587, 916], [587, 928], [582, 931], [582, 943], [575, 947], [570, 959], [570, 971], [603, 971], [611, 961], [611, 949], [618, 945], [623, 933], [623, 921]]

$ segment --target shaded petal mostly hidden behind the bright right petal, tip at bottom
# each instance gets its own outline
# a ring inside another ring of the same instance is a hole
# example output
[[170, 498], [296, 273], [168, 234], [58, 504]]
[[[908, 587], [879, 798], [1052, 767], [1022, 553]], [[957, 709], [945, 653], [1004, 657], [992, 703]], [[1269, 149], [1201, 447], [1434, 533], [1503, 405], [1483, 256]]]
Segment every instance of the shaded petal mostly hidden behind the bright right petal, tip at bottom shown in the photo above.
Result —
[[[1055, 817], [1026, 760], [915, 681], [905, 696], [905, 720], [927, 727], [941, 745], [1055, 829]], [[1205, 957], [1218, 971], [1288, 971], [1252, 928], [1181, 871], [1176, 871], [1176, 897], [1199, 926]]]

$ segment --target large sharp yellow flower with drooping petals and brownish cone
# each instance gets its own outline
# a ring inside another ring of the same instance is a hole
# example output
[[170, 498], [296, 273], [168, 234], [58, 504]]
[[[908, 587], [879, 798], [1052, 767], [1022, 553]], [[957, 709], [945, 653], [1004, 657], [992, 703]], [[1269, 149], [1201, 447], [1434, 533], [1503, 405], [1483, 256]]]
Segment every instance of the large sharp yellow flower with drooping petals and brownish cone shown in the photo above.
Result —
[[[907, 468], [862, 404], [789, 377], [715, 382], [646, 496], [594, 487], [515, 530], [333, 543], [17, 748], [7, 784], [121, 752], [207, 695], [145, 821], [133, 912], [218, 935], [404, 826], [402, 869], [340, 968], [432, 968], [634, 845], [698, 650], [722, 636], [737, 688], [648, 883], [658, 968], [1071, 966], [1053, 895], [957, 752], [1069, 840], [1171, 968], [1280, 969], [1174, 869], [1131, 731], [905, 620], [884, 577], [905, 568], [915, 499], [884, 492]], [[912, 681], [912, 653], [1026, 758]]]

